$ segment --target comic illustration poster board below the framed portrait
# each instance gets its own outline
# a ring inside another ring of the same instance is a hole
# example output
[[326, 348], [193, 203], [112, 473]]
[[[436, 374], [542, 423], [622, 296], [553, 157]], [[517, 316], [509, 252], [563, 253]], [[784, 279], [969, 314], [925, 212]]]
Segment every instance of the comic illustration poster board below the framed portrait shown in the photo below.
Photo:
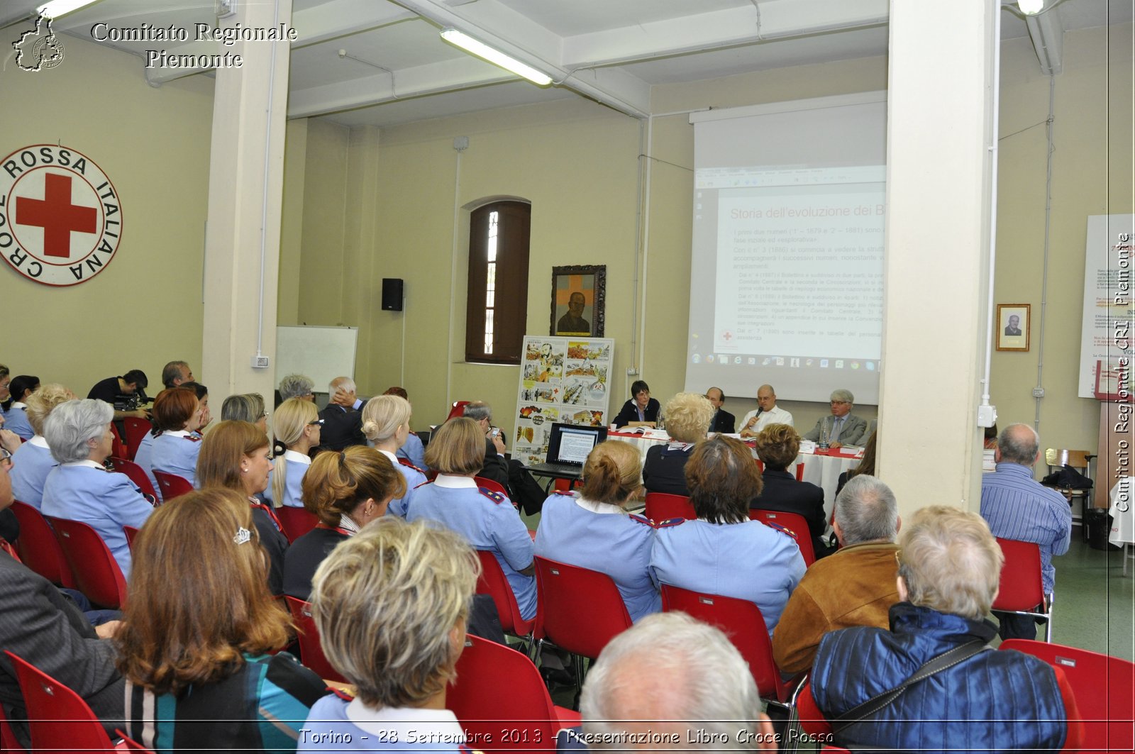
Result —
[[543, 463], [553, 424], [608, 424], [614, 350], [612, 338], [524, 336], [516, 432], [510, 443], [514, 459]]

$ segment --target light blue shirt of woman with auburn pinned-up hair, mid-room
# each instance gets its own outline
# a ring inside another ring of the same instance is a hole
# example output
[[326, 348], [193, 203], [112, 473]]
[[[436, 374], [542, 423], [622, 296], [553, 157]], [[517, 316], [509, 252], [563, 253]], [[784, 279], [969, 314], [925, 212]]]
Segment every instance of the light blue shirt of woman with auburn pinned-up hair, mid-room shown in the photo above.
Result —
[[653, 546], [650, 522], [628, 516], [617, 505], [556, 493], [540, 509], [536, 554], [609, 576], [631, 620], [662, 610], [662, 596], [648, 570]]

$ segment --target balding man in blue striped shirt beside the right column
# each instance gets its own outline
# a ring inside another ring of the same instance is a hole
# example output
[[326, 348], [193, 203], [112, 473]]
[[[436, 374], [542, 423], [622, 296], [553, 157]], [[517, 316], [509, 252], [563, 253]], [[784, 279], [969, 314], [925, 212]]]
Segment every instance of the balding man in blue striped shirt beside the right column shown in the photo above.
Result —
[[[995, 537], [1040, 545], [1044, 593], [1051, 594], [1052, 555], [1068, 552], [1071, 509], [1063, 495], [1033, 479], [1040, 447], [1041, 437], [1028, 425], [1009, 425], [1001, 432], [993, 455], [997, 470], [982, 478], [982, 517]], [[1036, 622], [1029, 615], [1000, 618], [1001, 638], [1036, 638]]]

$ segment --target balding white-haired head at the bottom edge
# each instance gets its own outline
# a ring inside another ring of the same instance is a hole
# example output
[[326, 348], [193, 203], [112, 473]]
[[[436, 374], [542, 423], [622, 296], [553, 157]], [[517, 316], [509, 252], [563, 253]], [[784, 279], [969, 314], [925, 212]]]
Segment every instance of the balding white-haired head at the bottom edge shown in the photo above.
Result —
[[[775, 752], [760, 706], [749, 665], [724, 634], [683, 612], [665, 612], [647, 615], [603, 648], [579, 710], [588, 748]], [[655, 743], [627, 743], [640, 735]]]

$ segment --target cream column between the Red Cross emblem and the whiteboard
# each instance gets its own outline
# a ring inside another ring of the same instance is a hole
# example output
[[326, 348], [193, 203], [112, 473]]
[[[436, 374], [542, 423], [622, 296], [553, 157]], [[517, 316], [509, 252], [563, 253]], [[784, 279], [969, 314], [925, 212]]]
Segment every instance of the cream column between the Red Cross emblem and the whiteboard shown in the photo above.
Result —
[[[221, 26], [291, 26], [292, 0], [235, 5]], [[291, 44], [224, 50], [243, 62], [216, 72], [201, 378], [215, 395], [260, 393], [271, 405]], [[268, 368], [252, 366], [258, 349]]]

